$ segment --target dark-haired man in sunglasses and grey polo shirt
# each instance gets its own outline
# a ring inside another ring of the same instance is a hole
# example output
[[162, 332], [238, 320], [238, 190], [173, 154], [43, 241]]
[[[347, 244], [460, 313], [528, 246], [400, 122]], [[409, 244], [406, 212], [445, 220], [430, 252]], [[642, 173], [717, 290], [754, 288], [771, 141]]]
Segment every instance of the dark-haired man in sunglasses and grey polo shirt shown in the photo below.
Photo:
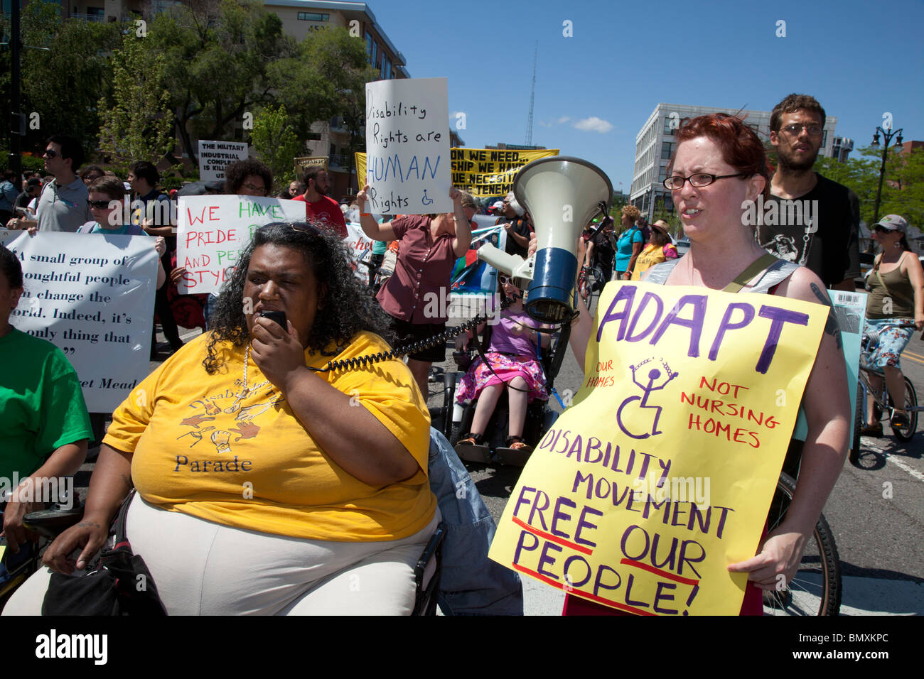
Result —
[[44, 152], [45, 170], [55, 176], [42, 188], [36, 218], [14, 218], [9, 220], [9, 229], [39, 231], [64, 231], [76, 233], [82, 224], [92, 219], [87, 205], [87, 185], [77, 176], [77, 168], [83, 163], [83, 149], [76, 139], [55, 135], [48, 139]]

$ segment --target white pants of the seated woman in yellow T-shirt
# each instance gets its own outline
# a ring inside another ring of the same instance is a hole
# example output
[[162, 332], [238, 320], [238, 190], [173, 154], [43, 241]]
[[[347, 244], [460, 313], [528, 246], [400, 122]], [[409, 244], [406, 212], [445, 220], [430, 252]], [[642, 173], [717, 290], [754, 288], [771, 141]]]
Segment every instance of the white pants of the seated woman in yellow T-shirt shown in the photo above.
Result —
[[[407, 615], [414, 565], [440, 522], [404, 540], [286, 538], [168, 512], [135, 496], [126, 532], [171, 615]], [[18, 588], [4, 615], [38, 615], [51, 571]]]

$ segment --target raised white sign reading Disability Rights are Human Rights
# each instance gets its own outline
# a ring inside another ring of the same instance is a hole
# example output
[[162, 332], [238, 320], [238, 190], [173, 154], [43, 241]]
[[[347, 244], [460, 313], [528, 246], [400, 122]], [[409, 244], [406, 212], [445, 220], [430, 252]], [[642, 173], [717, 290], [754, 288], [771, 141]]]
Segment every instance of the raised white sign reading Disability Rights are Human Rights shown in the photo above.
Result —
[[446, 79], [367, 82], [366, 150], [370, 212], [452, 212]]

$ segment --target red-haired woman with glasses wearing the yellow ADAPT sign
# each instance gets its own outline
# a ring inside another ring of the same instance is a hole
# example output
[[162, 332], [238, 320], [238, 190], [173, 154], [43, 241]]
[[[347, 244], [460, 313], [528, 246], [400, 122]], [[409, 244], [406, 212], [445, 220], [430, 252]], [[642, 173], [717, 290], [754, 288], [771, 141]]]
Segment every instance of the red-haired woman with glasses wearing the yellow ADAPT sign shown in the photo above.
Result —
[[[725, 114], [687, 121], [677, 130], [676, 139], [664, 187], [671, 191], [690, 249], [679, 260], [655, 265], [642, 280], [722, 290], [766, 254], [745, 215], [748, 201], [760, 195], [766, 198], [770, 190], [763, 144], [750, 127]], [[771, 293], [831, 306], [815, 273], [781, 260], [751, 277], [741, 292]], [[591, 333], [597, 328], [587, 309], [577, 308], [580, 315], [570, 342], [578, 364], [584, 365]], [[735, 375], [723, 373], [722, 379], [735, 382]], [[772, 591], [779, 587], [779, 576], [788, 582], [796, 574], [808, 538], [844, 466], [851, 422], [847, 394], [840, 330], [831, 309], [803, 396], [808, 436], [792, 504], [784, 522], [760, 541], [756, 556], [728, 566], [729, 571], [749, 574], [743, 614], [760, 614], [760, 589]], [[678, 448], [677, 454], [682, 453]], [[575, 597], [565, 604], [566, 613], [592, 614], [600, 609]]]

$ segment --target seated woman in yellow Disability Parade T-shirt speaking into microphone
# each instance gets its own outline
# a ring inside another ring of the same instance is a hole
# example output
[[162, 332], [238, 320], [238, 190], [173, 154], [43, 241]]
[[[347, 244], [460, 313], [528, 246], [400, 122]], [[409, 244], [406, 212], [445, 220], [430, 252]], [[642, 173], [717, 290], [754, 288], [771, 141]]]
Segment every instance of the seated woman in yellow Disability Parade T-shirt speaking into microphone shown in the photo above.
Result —
[[[389, 348], [346, 249], [309, 224], [263, 226], [213, 320], [116, 409], [83, 521], [44, 563], [84, 567], [133, 483], [128, 539], [170, 614], [410, 612], [439, 521], [430, 421], [400, 360], [323, 370]], [[7, 613], [41, 603], [42, 576]]]

